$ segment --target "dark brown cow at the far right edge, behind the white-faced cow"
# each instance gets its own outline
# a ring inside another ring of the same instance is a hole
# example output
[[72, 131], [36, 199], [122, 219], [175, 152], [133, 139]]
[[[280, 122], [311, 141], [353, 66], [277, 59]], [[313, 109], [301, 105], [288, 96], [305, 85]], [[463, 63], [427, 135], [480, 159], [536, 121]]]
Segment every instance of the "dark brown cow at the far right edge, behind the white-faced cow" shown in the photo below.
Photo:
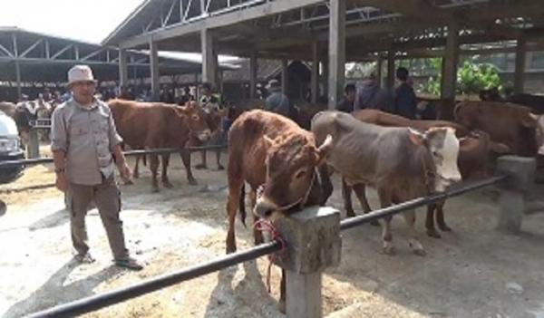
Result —
[[489, 133], [491, 140], [523, 157], [544, 154], [543, 116], [524, 106], [494, 101], [463, 101], [455, 108], [455, 121], [470, 130]]

